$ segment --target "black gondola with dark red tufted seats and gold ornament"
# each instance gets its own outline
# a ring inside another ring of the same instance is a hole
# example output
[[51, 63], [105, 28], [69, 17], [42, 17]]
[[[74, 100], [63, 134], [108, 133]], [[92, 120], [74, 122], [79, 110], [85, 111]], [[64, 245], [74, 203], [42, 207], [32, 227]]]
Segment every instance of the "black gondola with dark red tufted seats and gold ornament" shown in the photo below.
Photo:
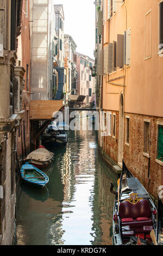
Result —
[[113, 245], [134, 245], [138, 240], [144, 245], [157, 243], [153, 241], [158, 228], [156, 207], [145, 187], [130, 173], [124, 162], [117, 183], [112, 222]]

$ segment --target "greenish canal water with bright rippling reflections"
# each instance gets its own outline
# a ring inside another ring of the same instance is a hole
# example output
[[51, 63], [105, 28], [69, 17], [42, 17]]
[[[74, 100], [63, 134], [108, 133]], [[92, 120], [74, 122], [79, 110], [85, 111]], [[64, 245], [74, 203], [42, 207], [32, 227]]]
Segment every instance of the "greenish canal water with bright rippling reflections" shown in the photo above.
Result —
[[111, 245], [117, 176], [101, 159], [96, 131], [70, 131], [68, 143], [46, 147], [54, 161], [42, 190], [21, 184], [17, 245]]

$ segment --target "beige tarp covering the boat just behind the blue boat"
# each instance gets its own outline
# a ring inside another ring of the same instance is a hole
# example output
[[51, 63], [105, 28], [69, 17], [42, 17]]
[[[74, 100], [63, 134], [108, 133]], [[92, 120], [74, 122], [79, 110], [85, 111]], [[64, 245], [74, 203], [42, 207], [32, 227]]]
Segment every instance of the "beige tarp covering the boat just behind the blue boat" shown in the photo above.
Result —
[[26, 160], [36, 160], [36, 161], [48, 161], [51, 160], [54, 153], [48, 151], [45, 148], [39, 148], [32, 151], [27, 157]]

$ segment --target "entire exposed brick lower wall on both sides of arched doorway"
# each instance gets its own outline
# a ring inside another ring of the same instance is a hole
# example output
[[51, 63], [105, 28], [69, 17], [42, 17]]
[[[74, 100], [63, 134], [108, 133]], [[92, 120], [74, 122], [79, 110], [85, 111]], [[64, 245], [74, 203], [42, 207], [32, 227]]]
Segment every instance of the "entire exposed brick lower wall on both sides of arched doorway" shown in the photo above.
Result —
[[[118, 163], [118, 129], [119, 112], [116, 113], [116, 136], [103, 137], [103, 151]], [[126, 143], [126, 117], [129, 117], [129, 144]], [[149, 121], [150, 143], [149, 154], [143, 153], [144, 147], [144, 121]], [[163, 162], [162, 165], [156, 162], [157, 147], [157, 122], [163, 123], [163, 118], [152, 117], [148, 115], [124, 113], [124, 141], [123, 141], [123, 159], [128, 169], [135, 175], [143, 186], [157, 197], [158, 187], [163, 185]], [[112, 131], [111, 131], [112, 132]], [[149, 177], [148, 177], [149, 166]]]

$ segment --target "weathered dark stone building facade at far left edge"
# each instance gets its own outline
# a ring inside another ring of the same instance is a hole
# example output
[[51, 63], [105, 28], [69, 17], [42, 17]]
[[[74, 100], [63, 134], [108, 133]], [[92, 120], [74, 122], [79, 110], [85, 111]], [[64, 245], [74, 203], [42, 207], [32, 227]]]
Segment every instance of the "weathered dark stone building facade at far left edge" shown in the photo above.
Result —
[[0, 3], [0, 243], [15, 237], [16, 135], [23, 117], [23, 66], [16, 66], [17, 37], [21, 33], [23, 1]]

